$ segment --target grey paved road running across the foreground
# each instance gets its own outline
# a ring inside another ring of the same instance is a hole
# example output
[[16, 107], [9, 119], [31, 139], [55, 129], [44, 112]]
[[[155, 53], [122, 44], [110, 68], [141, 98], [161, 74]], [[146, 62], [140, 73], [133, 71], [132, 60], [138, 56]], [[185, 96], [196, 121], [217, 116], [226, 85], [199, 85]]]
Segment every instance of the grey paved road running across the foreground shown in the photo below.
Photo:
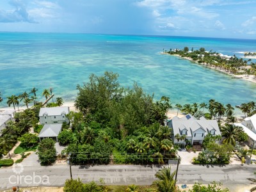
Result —
[[[176, 165], [171, 167], [172, 170], [175, 170]], [[154, 174], [160, 168], [159, 166], [136, 165], [72, 166], [72, 175], [73, 178], [79, 177], [83, 182], [102, 178], [106, 184], [149, 185], [155, 180]], [[19, 169], [17, 168], [17, 170]], [[232, 189], [237, 185], [250, 184], [247, 178], [255, 178], [253, 174], [255, 171], [255, 165], [180, 165], [177, 184], [194, 184], [195, 182], [208, 184], [215, 180], [222, 182], [224, 186], [233, 191]], [[24, 170], [20, 174], [13, 173], [12, 168], [1, 168], [0, 189], [9, 189], [12, 186], [63, 186], [65, 180], [69, 178], [68, 165], [24, 166]]]

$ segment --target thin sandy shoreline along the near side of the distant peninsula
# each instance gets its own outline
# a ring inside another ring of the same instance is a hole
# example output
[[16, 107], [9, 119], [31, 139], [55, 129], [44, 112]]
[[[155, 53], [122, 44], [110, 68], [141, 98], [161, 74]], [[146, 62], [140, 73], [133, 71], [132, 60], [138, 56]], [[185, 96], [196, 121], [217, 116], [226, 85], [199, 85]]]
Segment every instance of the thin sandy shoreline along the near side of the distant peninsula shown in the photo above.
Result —
[[250, 81], [252, 83], [256, 83], [256, 79], [254, 78], [254, 75], [246, 75], [246, 74], [243, 74], [243, 75], [235, 75], [235, 74], [231, 74], [230, 72], [227, 72], [226, 70], [224, 69], [220, 69], [220, 68], [216, 68], [216, 67], [212, 67], [210, 65], [208, 65], [207, 63], [198, 63], [197, 61], [193, 61], [191, 58], [188, 58], [188, 57], [182, 57], [180, 56], [179, 54], [169, 54], [167, 52], [161, 52], [160, 54], [168, 54], [170, 56], [177, 56], [179, 58], [182, 58], [184, 60], [188, 60], [188, 61], [191, 61], [191, 63], [196, 63], [198, 65], [202, 65], [204, 67], [207, 67], [207, 68], [212, 68], [214, 70], [217, 70], [218, 72], [222, 72], [224, 74], [227, 74], [229, 76], [233, 76], [234, 78], [236, 79], [242, 79], [242, 80], [245, 80], [245, 81]]

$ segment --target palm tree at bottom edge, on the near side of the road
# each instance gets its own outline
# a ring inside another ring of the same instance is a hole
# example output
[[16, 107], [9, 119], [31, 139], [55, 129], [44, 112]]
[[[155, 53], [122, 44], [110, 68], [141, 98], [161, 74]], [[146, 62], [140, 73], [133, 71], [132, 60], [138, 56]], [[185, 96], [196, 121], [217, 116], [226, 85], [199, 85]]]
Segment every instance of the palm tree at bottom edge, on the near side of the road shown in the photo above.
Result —
[[170, 192], [175, 191], [175, 180], [173, 179], [175, 171], [171, 173], [171, 168], [163, 168], [156, 173], [156, 178], [152, 186], [157, 187], [157, 192]]

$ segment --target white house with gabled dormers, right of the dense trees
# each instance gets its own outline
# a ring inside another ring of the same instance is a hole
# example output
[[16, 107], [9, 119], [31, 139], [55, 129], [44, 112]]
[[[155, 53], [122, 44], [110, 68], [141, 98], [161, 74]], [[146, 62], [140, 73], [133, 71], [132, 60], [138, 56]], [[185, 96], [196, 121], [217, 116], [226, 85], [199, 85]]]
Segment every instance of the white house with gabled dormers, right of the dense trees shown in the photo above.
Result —
[[174, 144], [186, 143], [185, 140], [178, 141], [175, 135], [185, 135], [192, 145], [202, 144], [207, 134], [221, 135], [217, 120], [207, 120], [203, 116], [198, 120], [194, 116], [188, 114], [179, 118], [174, 116], [167, 123], [172, 128], [172, 140]]

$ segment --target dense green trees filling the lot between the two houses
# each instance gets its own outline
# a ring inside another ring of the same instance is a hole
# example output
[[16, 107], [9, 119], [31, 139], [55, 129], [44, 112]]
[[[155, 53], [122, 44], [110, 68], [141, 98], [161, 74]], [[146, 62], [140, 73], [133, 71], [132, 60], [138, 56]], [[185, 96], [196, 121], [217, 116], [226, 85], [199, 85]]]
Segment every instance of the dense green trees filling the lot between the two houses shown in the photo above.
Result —
[[63, 152], [71, 154], [72, 163], [163, 164], [176, 157], [170, 129], [164, 126], [172, 107], [168, 97], [154, 102], [136, 83], [120, 86], [113, 72], [92, 74], [77, 90], [80, 112], [68, 115], [71, 129], [58, 138], [68, 143]]

